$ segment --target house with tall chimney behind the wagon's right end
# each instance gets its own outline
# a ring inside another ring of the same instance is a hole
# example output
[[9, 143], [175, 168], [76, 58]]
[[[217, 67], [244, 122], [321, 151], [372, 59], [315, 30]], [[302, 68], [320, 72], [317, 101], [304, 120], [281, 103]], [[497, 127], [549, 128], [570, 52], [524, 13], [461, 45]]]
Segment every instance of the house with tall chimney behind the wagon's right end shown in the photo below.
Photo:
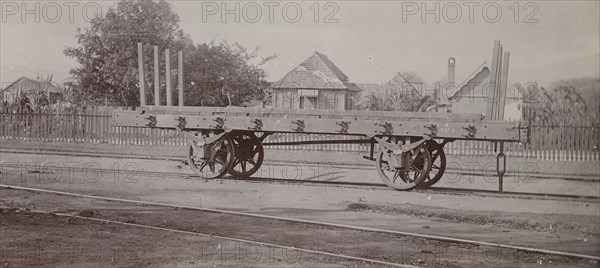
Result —
[[[448, 61], [448, 83], [436, 91], [436, 110], [442, 113], [468, 113], [486, 115], [493, 100], [494, 85], [490, 82], [490, 69], [485, 62], [464, 82], [454, 81], [456, 61]], [[519, 88], [507, 87], [504, 101], [504, 120], [520, 120], [522, 94]]]

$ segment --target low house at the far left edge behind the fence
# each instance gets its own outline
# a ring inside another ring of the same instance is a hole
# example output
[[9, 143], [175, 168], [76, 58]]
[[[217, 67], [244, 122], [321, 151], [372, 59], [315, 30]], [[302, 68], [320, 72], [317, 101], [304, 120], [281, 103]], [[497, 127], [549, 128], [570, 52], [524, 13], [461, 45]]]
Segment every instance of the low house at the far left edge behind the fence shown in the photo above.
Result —
[[22, 76], [2, 91], [2, 100], [14, 103], [23, 96], [32, 95], [46, 96], [49, 100], [62, 97], [60, 89], [52, 82]]

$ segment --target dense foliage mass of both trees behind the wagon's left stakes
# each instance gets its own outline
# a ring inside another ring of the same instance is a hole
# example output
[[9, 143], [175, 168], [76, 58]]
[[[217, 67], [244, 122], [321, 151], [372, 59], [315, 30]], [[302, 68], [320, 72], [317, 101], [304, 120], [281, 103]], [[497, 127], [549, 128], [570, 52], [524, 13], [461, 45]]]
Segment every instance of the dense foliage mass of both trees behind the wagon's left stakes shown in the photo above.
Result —
[[[266, 88], [259, 59], [239, 44], [194, 45], [179, 28], [179, 17], [164, 0], [122, 0], [104, 17], [95, 18], [86, 29], [78, 29], [78, 46], [65, 55], [80, 64], [72, 69], [78, 80], [79, 101], [115, 106], [139, 105], [137, 43], [144, 44], [146, 103], [154, 101], [154, 52], [158, 46], [161, 102], [166, 103], [164, 50], [172, 52], [171, 68], [177, 68], [177, 51], [184, 53], [186, 105], [238, 105], [246, 99], [262, 98]], [[255, 61], [255, 62], [254, 62]], [[177, 71], [172, 70], [173, 90]], [[177, 94], [173, 94], [177, 104]], [[231, 100], [231, 101], [229, 101]]]

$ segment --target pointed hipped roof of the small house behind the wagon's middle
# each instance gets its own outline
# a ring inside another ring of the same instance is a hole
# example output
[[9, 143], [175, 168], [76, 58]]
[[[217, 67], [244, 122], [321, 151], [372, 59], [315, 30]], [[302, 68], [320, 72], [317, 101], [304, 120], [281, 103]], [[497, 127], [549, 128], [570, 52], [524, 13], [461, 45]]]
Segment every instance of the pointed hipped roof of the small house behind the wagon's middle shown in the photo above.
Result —
[[360, 91], [326, 55], [315, 53], [273, 84], [274, 89], [347, 89]]

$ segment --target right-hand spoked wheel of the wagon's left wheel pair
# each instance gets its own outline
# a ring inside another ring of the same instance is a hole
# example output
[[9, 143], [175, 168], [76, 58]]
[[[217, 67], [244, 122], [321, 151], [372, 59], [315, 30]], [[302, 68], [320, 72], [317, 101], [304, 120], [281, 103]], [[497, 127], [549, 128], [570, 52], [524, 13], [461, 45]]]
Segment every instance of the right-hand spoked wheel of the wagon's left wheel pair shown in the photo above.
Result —
[[235, 147], [235, 159], [229, 174], [250, 177], [262, 165], [265, 151], [260, 139], [252, 132], [232, 132], [229, 134]]

